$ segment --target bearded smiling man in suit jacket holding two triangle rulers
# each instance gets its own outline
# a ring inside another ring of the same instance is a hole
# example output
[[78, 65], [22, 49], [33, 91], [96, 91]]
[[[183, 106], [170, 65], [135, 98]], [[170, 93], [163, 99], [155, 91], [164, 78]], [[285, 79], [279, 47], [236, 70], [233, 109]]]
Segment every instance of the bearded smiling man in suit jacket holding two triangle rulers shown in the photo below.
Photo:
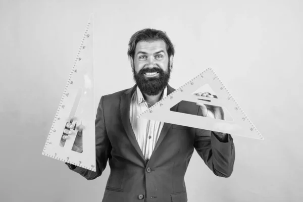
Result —
[[[98, 105], [96, 172], [68, 167], [92, 180], [109, 161], [104, 202], [187, 201], [184, 175], [194, 149], [215, 175], [229, 177], [235, 160], [230, 134], [136, 118], [175, 90], [168, 84], [174, 47], [166, 33], [155, 29], [136, 32], [129, 41], [128, 57], [136, 84], [102, 96]], [[208, 92], [197, 95], [216, 97]], [[221, 108], [203, 104], [181, 102], [172, 111], [224, 119]], [[71, 123], [66, 125], [63, 143], [75, 127]], [[82, 152], [81, 141], [78, 133], [73, 150]]]

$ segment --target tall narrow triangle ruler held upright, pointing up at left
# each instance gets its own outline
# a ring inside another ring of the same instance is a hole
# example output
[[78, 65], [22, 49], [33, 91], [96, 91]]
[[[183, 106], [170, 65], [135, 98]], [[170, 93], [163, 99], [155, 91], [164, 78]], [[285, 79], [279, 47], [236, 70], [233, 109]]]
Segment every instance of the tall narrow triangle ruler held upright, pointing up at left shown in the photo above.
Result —
[[[42, 155], [95, 171], [93, 74], [93, 16], [91, 14]], [[69, 135], [64, 146], [60, 145], [66, 123], [70, 122], [71, 117], [77, 118], [77, 125], [82, 124], [85, 127], [82, 131], [82, 153], [72, 150], [77, 128], [74, 135]]]

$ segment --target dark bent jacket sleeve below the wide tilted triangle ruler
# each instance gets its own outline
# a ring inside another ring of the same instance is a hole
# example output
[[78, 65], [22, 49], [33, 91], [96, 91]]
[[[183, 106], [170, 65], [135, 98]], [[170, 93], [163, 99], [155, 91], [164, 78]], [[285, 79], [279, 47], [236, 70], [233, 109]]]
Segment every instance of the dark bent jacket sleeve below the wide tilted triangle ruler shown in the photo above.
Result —
[[[201, 115], [200, 109], [198, 115]], [[205, 164], [220, 177], [230, 177], [235, 162], [233, 138], [227, 135], [227, 141], [220, 141], [214, 131], [195, 129], [194, 148]]]

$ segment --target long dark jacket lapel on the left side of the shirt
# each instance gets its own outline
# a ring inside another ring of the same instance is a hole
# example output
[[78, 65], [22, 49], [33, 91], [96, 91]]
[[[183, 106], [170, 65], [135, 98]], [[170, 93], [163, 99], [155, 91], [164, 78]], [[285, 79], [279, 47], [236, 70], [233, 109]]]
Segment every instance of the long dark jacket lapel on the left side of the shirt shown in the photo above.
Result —
[[120, 113], [121, 113], [121, 119], [122, 119], [122, 124], [124, 126], [124, 129], [126, 131], [126, 134], [129, 138], [129, 141], [132, 143], [140, 157], [144, 160], [145, 158], [143, 156], [143, 153], [140, 149], [140, 146], [137, 142], [135, 133], [132, 129], [130, 119], [129, 119], [129, 110], [130, 110], [130, 103], [131, 103], [131, 96], [133, 92], [136, 90], [136, 86], [134, 85], [132, 88], [128, 89], [123, 95], [121, 96], [121, 102], [120, 102]]

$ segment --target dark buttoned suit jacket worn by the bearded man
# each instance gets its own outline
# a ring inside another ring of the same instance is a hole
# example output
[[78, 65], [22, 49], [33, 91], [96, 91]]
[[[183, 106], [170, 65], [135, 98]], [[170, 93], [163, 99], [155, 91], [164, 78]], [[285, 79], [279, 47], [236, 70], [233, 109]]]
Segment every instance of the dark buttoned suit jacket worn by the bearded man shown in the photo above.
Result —
[[[184, 175], [194, 149], [217, 176], [229, 177], [235, 150], [230, 134], [220, 142], [209, 130], [165, 123], [149, 161], [137, 143], [129, 119], [136, 85], [100, 98], [95, 119], [96, 172], [69, 168], [87, 180], [111, 169], [103, 202], [185, 202]], [[175, 89], [168, 85], [168, 94]], [[181, 102], [172, 111], [201, 114], [195, 103]]]

